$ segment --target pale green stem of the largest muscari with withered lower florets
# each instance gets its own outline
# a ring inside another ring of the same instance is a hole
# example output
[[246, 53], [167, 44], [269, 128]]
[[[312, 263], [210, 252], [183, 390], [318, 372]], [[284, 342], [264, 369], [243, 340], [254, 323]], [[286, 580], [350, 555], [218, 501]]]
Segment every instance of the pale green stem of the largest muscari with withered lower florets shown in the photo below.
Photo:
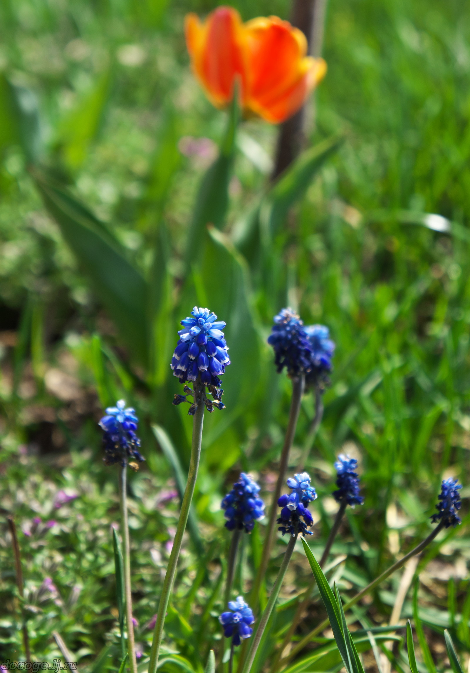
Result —
[[165, 575], [165, 579], [163, 580], [163, 587], [161, 589], [157, 622], [155, 623], [155, 631], [153, 633], [148, 673], [155, 673], [157, 670], [161, 641], [163, 639], [163, 625], [165, 624], [165, 616], [167, 613], [171, 588], [173, 587], [173, 580], [175, 579], [176, 567], [180, 557], [183, 535], [184, 531], [186, 530], [186, 523], [188, 522], [192, 496], [194, 494], [194, 487], [196, 485], [196, 478], [198, 476], [202, 444], [202, 423], [204, 421], [204, 403], [202, 402], [201, 392], [202, 384], [199, 381], [194, 382], [194, 399], [198, 400], [198, 408], [196, 409], [192, 423], [192, 446], [188, 481], [186, 482], [186, 489], [184, 490], [180, 518], [178, 519], [178, 526], [176, 528], [175, 539], [173, 541], [173, 548], [171, 549], [171, 554], [169, 555], [167, 573]]

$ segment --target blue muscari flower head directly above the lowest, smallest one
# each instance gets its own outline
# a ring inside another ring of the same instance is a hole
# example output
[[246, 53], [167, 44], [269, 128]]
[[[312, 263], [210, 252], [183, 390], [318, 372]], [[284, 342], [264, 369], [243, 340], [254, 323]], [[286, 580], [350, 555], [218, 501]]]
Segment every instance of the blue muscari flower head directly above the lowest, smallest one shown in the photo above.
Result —
[[264, 502], [258, 493], [261, 487], [251, 479], [251, 476], [241, 472], [240, 479], [233, 485], [221, 503], [225, 509], [225, 528], [229, 530], [253, 530], [256, 521], [264, 518]]

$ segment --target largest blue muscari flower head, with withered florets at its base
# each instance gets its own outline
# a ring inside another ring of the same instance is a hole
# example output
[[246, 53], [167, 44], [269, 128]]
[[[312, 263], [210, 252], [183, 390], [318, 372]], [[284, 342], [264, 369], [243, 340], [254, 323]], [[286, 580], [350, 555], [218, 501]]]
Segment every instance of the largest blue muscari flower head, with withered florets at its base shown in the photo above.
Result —
[[[217, 409], [225, 409], [225, 404], [221, 400], [223, 390], [219, 376], [225, 374], [225, 367], [230, 364], [230, 358], [227, 353], [229, 350], [227, 342], [221, 331], [225, 327], [225, 322], [217, 322], [217, 316], [208, 308], [197, 306], [194, 306], [191, 316], [181, 321], [183, 329], [178, 331], [180, 339], [170, 366], [173, 369], [173, 376], [185, 384], [184, 395], [175, 394], [173, 404], [189, 402], [191, 406], [188, 414], [194, 416], [198, 404], [201, 403], [206, 405], [209, 412], [214, 411], [214, 406]], [[202, 384], [202, 400], [196, 400], [194, 390], [186, 385], [187, 381], [193, 384], [199, 381]], [[206, 397], [206, 388], [212, 395], [212, 400]], [[188, 396], [192, 396], [192, 402], [187, 399]]]

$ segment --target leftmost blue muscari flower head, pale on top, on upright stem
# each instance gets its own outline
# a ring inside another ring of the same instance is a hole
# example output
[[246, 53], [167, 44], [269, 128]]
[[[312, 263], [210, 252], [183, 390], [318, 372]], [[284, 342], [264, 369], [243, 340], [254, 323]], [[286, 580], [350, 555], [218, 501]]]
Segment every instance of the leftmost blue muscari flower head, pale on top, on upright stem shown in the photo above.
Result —
[[139, 460], [139, 462], [145, 460], [139, 452], [141, 440], [136, 435], [139, 419], [134, 409], [130, 406], [127, 409], [125, 407], [124, 400], [116, 402], [116, 406], [108, 406], [106, 416], [99, 423], [104, 430], [103, 446], [106, 465], [119, 462], [124, 467], [128, 458]]

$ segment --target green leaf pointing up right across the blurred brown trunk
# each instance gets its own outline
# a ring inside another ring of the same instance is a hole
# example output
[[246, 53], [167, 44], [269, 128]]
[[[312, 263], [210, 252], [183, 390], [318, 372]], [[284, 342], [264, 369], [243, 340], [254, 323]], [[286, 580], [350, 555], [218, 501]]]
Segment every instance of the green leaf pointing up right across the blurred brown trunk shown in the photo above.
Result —
[[305, 150], [280, 176], [262, 201], [260, 224], [263, 240], [270, 240], [276, 234], [289, 209], [301, 199], [313, 177], [342, 142], [342, 136], [333, 136]]

